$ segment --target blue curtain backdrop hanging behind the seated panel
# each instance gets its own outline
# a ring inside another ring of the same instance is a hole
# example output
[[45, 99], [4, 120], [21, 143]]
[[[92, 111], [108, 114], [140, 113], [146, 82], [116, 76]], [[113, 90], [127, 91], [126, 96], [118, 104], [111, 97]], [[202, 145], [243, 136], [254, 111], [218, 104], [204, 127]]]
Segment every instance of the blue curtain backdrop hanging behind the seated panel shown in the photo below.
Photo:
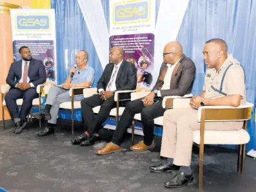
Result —
[[[160, 2], [161, 0], [157, 0], [157, 13]], [[89, 64], [95, 69], [95, 87], [103, 69], [77, 0], [52, 0], [51, 3], [56, 14], [58, 82], [62, 83], [66, 80], [70, 67], [75, 64], [75, 52], [84, 49], [89, 53]], [[109, 27], [109, 2], [101, 0], [101, 3]], [[228, 53], [232, 53], [233, 57], [244, 66], [247, 100], [255, 103], [255, 23], [256, 1], [190, 0], [177, 41], [181, 42], [184, 53], [192, 58], [197, 66], [193, 94], [201, 93], [204, 82], [205, 66], [202, 59], [204, 44], [206, 40], [219, 37], [226, 40]], [[63, 117], [68, 118], [66, 114]], [[248, 132], [251, 135], [248, 150], [256, 149], [254, 117], [253, 109], [253, 118], [248, 122]], [[81, 112], [78, 111], [75, 119], [80, 120], [80, 118]]]

